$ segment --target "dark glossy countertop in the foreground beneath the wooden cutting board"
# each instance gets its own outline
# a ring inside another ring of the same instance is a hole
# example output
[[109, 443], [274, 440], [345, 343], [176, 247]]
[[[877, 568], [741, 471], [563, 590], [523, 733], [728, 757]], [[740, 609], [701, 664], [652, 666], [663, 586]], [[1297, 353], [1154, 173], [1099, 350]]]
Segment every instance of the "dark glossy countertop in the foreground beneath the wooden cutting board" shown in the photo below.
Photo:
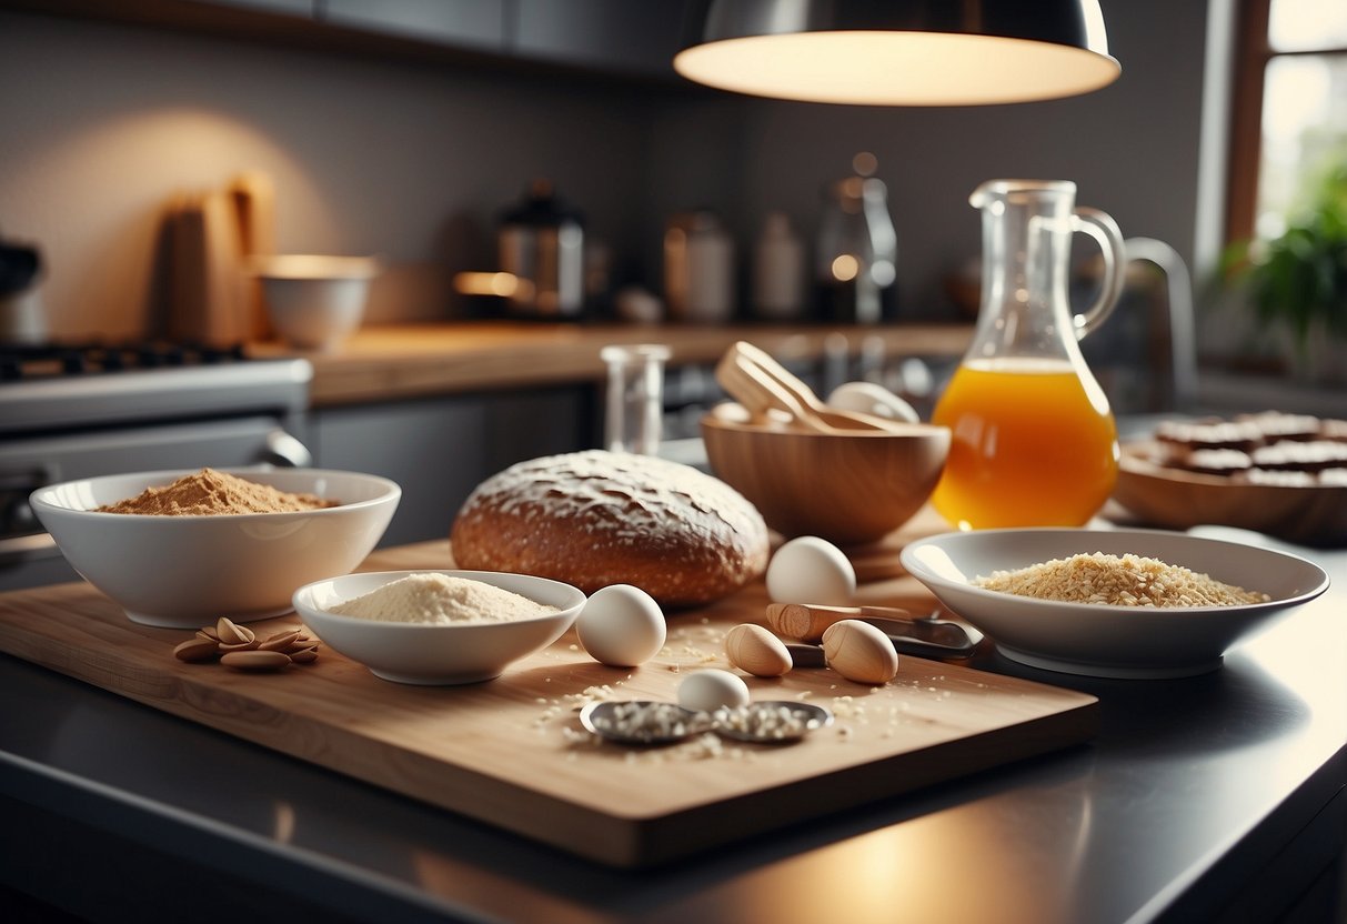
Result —
[[[370, 566], [445, 555], [424, 543]], [[0, 877], [93, 920], [1109, 924], [1280, 920], [1294, 902], [1293, 920], [1342, 920], [1347, 554], [1319, 558], [1328, 594], [1214, 673], [1091, 680], [975, 656], [1098, 696], [1088, 745], [641, 873], [5, 656]]]

